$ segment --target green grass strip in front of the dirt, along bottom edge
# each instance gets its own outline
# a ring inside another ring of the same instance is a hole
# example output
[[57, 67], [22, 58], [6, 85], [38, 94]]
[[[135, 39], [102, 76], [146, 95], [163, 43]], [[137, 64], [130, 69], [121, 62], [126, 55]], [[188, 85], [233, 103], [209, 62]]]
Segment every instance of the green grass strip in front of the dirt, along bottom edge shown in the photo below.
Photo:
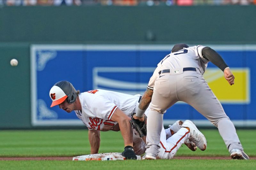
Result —
[[218, 169], [254, 170], [255, 160], [128, 160], [128, 161], [0, 161], [0, 169], [88, 169], [88, 170], [168, 170], [168, 169]]

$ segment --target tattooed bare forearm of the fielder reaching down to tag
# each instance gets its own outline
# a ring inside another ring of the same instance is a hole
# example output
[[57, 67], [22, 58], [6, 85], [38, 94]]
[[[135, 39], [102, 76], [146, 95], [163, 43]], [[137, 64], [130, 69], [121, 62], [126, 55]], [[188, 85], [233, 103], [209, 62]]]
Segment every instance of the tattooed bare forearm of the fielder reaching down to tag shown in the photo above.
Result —
[[[144, 92], [143, 96], [141, 97], [140, 103], [139, 103], [139, 108], [137, 110], [136, 115], [133, 115], [134, 119], [138, 119], [141, 122], [144, 121], [144, 112], [145, 110], [148, 108], [149, 103], [151, 102], [152, 99], [152, 95], [153, 95], [153, 90], [147, 88], [147, 90]], [[140, 116], [142, 115], [142, 116]]]

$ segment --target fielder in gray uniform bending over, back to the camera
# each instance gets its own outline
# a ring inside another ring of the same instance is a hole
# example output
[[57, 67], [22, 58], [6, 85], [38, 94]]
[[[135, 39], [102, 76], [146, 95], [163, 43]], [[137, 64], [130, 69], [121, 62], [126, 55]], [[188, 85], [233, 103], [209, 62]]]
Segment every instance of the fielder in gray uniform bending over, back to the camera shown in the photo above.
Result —
[[188, 103], [219, 129], [232, 159], [249, 159], [244, 153], [234, 124], [203, 78], [209, 61], [224, 72], [224, 78], [230, 85], [234, 84], [235, 77], [228, 65], [210, 47], [176, 44], [172, 52], [158, 63], [140, 100], [137, 113], [133, 116], [143, 121], [142, 115], [149, 106], [145, 159], [156, 159], [163, 114], [177, 101]]

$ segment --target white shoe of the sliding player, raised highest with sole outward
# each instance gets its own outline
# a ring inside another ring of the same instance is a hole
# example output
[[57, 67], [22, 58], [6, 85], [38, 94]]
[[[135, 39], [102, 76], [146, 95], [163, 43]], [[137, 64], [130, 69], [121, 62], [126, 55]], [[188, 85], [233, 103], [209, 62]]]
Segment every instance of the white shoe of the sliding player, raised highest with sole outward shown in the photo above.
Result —
[[196, 125], [190, 121], [190, 120], [186, 120], [184, 121], [184, 123], [182, 124], [183, 128], [189, 128], [190, 131], [190, 137], [189, 140], [194, 142], [196, 144], [196, 146], [204, 151], [206, 149], [207, 146], [207, 141], [203, 135], [202, 132], [200, 132], [197, 128]]

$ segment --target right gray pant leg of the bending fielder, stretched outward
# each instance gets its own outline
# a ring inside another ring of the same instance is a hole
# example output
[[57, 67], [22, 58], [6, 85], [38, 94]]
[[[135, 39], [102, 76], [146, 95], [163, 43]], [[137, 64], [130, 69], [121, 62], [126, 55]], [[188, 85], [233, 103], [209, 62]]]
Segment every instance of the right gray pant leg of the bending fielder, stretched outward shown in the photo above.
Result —
[[[229, 152], [234, 148], [243, 151], [234, 124], [226, 115], [220, 101], [216, 98], [203, 76], [196, 72], [184, 72], [183, 74], [184, 78], [180, 80], [179, 87], [181, 91], [178, 97], [194, 107], [218, 128]], [[189, 74], [191, 79], [189, 79], [189, 76], [185, 76], [186, 74]], [[186, 93], [184, 93], [184, 89], [186, 89]]]

